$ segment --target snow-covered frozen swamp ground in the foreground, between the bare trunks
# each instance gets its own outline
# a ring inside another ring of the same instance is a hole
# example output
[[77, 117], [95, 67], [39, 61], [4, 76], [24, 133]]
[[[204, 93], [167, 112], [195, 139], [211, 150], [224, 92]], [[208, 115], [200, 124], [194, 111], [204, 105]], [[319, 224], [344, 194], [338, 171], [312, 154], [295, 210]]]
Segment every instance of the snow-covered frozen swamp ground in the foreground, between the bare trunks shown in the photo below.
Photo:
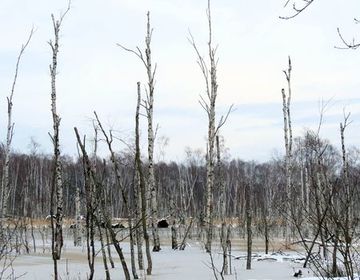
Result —
[[[53, 261], [51, 258], [51, 239], [50, 234], [36, 234], [36, 253], [30, 248], [30, 254], [18, 255], [13, 262], [15, 276], [20, 279], [29, 280], [50, 280], [53, 279]], [[48, 233], [48, 232], [47, 232]], [[148, 280], [207, 280], [215, 279], [211, 266], [210, 255], [204, 250], [204, 244], [196, 239], [188, 239], [184, 251], [172, 250], [170, 246], [170, 234], [168, 230], [162, 231], [162, 250], [152, 253], [153, 271], [152, 275], [146, 275], [145, 271], [137, 271], [140, 279]], [[119, 233], [119, 238], [126, 236]], [[29, 245], [33, 242], [29, 236]], [[129, 272], [131, 274], [130, 249], [128, 242], [122, 242], [121, 247], [125, 255]], [[295, 248], [294, 248], [295, 249]], [[297, 248], [301, 250], [301, 248]], [[218, 243], [214, 242], [213, 262], [217, 270], [221, 270], [222, 254]], [[137, 250], [135, 250], [137, 251]], [[234, 238], [232, 240], [231, 264], [232, 273], [224, 278], [241, 280], [285, 280], [297, 279], [294, 273], [299, 269], [302, 271], [301, 279], [315, 280], [310, 269], [303, 269], [302, 264], [304, 255], [295, 251], [284, 252], [281, 240], [273, 239], [270, 242], [268, 255], [264, 254], [264, 241], [261, 239], [253, 240], [252, 269], [246, 270], [246, 242], [244, 239]], [[65, 243], [62, 258], [58, 262], [58, 271], [62, 280], [83, 280], [88, 279], [89, 267], [87, 262], [86, 243], [80, 247], [75, 247], [72, 240], [72, 231], [65, 234]], [[96, 241], [96, 252], [98, 252], [95, 262], [95, 280], [105, 279], [104, 265], [100, 251], [100, 242]], [[120, 264], [119, 257], [114, 248], [111, 247], [112, 257], [115, 268], [111, 269], [111, 279], [124, 279], [124, 273]], [[144, 263], [146, 267], [146, 256], [144, 252]], [[2, 263], [0, 261], [0, 272]], [[9, 273], [11, 270], [7, 270]], [[6, 279], [1, 277], [0, 279]], [[14, 279], [14, 278], [9, 278]], [[218, 279], [221, 279], [218, 275]], [[343, 278], [345, 279], [345, 278]], [[360, 279], [359, 279], [360, 280]]]

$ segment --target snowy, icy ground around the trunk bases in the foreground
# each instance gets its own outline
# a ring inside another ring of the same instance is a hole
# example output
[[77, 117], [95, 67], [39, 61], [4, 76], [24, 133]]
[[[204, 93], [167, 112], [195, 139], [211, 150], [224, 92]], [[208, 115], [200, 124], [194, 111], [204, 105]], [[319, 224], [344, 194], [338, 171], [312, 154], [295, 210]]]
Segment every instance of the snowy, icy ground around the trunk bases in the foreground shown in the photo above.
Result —
[[[38, 244], [41, 244], [41, 242]], [[47, 244], [45, 252], [43, 252], [43, 248], [39, 246], [37, 253], [18, 256], [14, 261], [15, 274], [24, 274], [21, 279], [51, 279], [53, 275], [53, 263], [48, 247], [49, 245], [50, 244]], [[131, 273], [129, 246], [127, 243], [123, 243], [122, 247]], [[214, 246], [213, 250], [214, 264], [220, 270], [222, 263], [222, 256], [219, 253], [220, 249]], [[110, 270], [112, 279], [124, 279], [119, 259], [113, 250], [112, 256], [115, 261], [115, 268]], [[313, 276], [311, 271], [301, 268], [301, 263], [293, 261], [301, 257], [297, 253], [261, 255], [260, 252], [255, 252], [251, 270], [245, 269], [246, 259], [243, 257], [245, 256], [245, 252], [240, 250], [233, 251], [232, 256], [232, 275], [226, 276], [225, 279], [296, 279], [293, 275], [294, 272], [299, 269], [301, 269], [303, 273], [302, 279], [311, 279], [310, 277]], [[184, 251], [174, 251], [169, 246], [162, 246], [162, 250], [153, 253], [152, 258], [153, 274], [147, 276], [144, 271], [138, 271], [141, 279], [215, 279], [211, 269], [210, 256], [205, 253], [202, 244], [199, 242], [190, 242]], [[74, 247], [72, 241], [67, 240], [64, 246], [62, 260], [59, 261], [59, 275], [61, 279], [86, 279], [87, 273], [88, 266], [85, 246]], [[95, 279], [105, 279], [101, 253], [98, 254], [96, 260]], [[221, 278], [219, 277], [219, 279]]]

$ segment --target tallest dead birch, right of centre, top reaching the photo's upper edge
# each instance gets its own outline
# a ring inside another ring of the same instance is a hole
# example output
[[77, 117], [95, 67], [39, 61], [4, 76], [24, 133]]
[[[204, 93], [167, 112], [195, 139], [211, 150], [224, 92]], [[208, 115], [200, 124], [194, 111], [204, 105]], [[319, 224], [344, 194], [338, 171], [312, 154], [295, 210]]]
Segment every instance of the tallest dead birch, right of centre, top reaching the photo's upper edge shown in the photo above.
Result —
[[215, 138], [218, 134], [219, 129], [225, 124], [231, 110], [230, 106], [227, 114], [220, 118], [218, 124], [215, 120], [215, 105], [218, 94], [218, 83], [217, 83], [217, 62], [216, 57], [217, 47], [213, 46], [212, 42], [212, 21], [211, 21], [211, 9], [210, 0], [208, 0], [207, 7], [207, 19], [209, 27], [209, 39], [208, 39], [208, 56], [210, 68], [208, 62], [200, 54], [199, 49], [195, 43], [194, 37], [190, 33], [189, 42], [194, 48], [197, 55], [197, 63], [202, 72], [205, 87], [206, 97], [200, 95], [199, 103], [205, 110], [208, 117], [208, 136], [207, 136], [207, 152], [206, 152], [206, 191], [205, 191], [205, 222], [207, 226], [206, 233], [206, 244], [205, 249], [207, 252], [211, 252], [211, 242], [213, 236], [213, 193], [214, 193], [214, 166], [215, 166]]

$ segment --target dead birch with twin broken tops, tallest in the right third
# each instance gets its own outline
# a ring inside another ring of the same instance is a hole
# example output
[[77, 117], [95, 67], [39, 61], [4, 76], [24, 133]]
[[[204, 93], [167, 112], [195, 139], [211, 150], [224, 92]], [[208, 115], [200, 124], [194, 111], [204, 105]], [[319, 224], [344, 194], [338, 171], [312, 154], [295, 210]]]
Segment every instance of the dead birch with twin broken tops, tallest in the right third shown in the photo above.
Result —
[[290, 208], [290, 195], [292, 189], [292, 127], [291, 127], [291, 59], [288, 60], [288, 69], [284, 70], [284, 74], [287, 81], [288, 93], [286, 94], [285, 89], [281, 90], [283, 100], [283, 118], [284, 118], [284, 140], [285, 140], [285, 174], [286, 174], [286, 198], [285, 198], [285, 242], [288, 245], [290, 243], [290, 225], [289, 220], [291, 217]]

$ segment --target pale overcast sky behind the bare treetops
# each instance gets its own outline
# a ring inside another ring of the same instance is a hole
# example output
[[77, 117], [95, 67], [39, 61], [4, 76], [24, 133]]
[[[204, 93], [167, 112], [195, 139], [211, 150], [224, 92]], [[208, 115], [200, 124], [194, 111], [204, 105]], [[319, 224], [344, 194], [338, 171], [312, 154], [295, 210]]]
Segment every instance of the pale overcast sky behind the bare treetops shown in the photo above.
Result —
[[[329, 100], [322, 136], [339, 146], [343, 108], [353, 123], [347, 143], [359, 147], [360, 50], [338, 50], [336, 28], [346, 38], [360, 40], [360, 2], [315, 1], [291, 21], [285, 0], [213, 0], [214, 41], [219, 45], [217, 114], [230, 104], [236, 111], [221, 134], [233, 157], [265, 161], [283, 151], [281, 88], [287, 57], [293, 61], [293, 126], [295, 136], [316, 128], [319, 102]], [[182, 160], [185, 147], [205, 147], [207, 119], [198, 104], [204, 93], [195, 53], [187, 37], [191, 30], [206, 54], [207, 1], [193, 0], [73, 0], [61, 30], [58, 104], [63, 153], [76, 154], [73, 127], [92, 137], [92, 112], [107, 127], [130, 141], [134, 127], [136, 82], [145, 82], [143, 65], [116, 46], [143, 48], [146, 12], [151, 12], [153, 60], [158, 71], [155, 122], [159, 136], [169, 138], [165, 159]], [[14, 96], [13, 147], [28, 151], [30, 137], [51, 152], [50, 75], [51, 13], [58, 16], [67, 1], [0, 0], [0, 133], [5, 140], [6, 96], [16, 58], [32, 26], [36, 33], [22, 63]], [[146, 120], [142, 119], [145, 124]], [[146, 130], [143, 129], [143, 145]], [[119, 144], [118, 148], [123, 146]], [[103, 151], [104, 155], [105, 152]]]

